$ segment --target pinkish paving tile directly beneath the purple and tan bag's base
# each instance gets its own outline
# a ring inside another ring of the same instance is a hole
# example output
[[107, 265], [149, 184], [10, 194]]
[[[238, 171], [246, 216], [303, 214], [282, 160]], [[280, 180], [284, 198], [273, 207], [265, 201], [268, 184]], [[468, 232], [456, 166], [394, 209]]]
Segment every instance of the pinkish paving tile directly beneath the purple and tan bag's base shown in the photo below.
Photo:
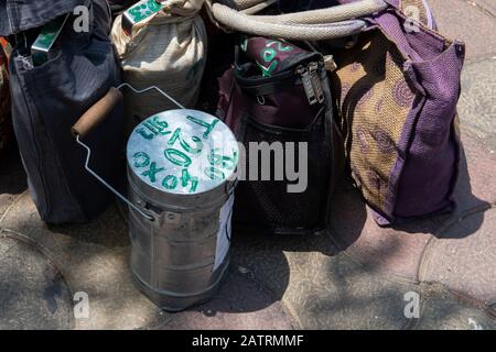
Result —
[[[378, 227], [359, 194], [349, 185], [338, 187], [333, 205], [332, 233], [341, 250], [362, 265], [382, 274], [393, 274], [418, 282], [420, 258], [425, 245], [436, 233], [471, 210], [484, 210], [496, 201], [494, 170], [496, 158], [488, 156], [470, 134], [463, 135], [464, 157], [455, 190], [457, 208], [451, 216], [439, 216], [393, 228]], [[483, 222], [476, 213], [472, 228], [476, 231]]]

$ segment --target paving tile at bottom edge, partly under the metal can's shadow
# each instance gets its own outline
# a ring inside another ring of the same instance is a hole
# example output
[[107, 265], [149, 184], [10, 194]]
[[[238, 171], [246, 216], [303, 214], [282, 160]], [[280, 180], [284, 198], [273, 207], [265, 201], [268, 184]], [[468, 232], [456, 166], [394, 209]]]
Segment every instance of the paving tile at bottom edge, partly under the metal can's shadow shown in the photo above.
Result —
[[172, 315], [160, 329], [293, 329], [282, 305], [234, 265], [213, 300]]

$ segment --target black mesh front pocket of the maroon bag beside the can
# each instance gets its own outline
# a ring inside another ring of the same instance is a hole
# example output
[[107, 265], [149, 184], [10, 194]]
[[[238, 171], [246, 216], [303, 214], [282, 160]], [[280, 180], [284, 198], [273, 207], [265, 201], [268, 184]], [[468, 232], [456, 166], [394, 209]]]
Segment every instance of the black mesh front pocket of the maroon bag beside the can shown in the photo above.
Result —
[[[251, 142], [294, 142], [295, 169], [298, 164], [298, 142], [308, 142], [309, 151], [309, 182], [304, 193], [290, 194], [287, 191], [289, 182], [241, 182], [236, 191], [235, 222], [249, 227], [261, 228], [274, 233], [296, 233], [321, 229], [325, 226], [327, 195], [323, 189], [328, 189], [331, 178], [331, 147], [326, 138], [324, 114], [315, 121], [310, 132], [281, 133], [281, 130], [261, 130], [257, 125], [248, 123], [245, 132], [245, 141]], [[249, 144], [245, 142], [247, 161], [249, 161]], [[285, 150], [284, 150], [285, 152]], [[285, 165], [285, 164], [284, 164]], [[270, 162], [272, 176], [274, 160]], [[247, 170], [249, 167], [247, 167]], [[259, 179], [261, 178], [259, 161]]]

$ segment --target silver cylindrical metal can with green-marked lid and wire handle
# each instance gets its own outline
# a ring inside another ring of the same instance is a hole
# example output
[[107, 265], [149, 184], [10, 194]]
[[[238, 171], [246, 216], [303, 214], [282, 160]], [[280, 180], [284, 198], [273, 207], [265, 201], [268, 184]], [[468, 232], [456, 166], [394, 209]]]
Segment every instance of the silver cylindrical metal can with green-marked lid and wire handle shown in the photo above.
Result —
[[[73, 128], [88, 152], [80, 138], [115, 99], [121, 99], [117, 89]], [[208, 299], [227, 273], [238, 157], [227, 125], [188, 109], [154, 114], [133, 130], [128, 198], [89, 168], [88, 153], [87, 170], [129, 205], [132, 277], [162, 309], [177, 311]]]

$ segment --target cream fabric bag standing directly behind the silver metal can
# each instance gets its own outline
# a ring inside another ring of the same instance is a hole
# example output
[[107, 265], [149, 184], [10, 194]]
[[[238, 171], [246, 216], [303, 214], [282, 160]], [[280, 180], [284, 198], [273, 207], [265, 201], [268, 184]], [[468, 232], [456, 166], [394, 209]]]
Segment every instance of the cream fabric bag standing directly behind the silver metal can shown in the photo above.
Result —
[[[205, 68], [207, 34], [198, 14], [203, 0], [177, 0], [132, 36], [123, 33], [121, 16], [111, 40], [123, 69], [123, 80], [137, 89], [157, 86], [186, 108], [194, 108]], [[155, 91], [125, 90], [127, 129], [164, 110], [176, 109]]]

